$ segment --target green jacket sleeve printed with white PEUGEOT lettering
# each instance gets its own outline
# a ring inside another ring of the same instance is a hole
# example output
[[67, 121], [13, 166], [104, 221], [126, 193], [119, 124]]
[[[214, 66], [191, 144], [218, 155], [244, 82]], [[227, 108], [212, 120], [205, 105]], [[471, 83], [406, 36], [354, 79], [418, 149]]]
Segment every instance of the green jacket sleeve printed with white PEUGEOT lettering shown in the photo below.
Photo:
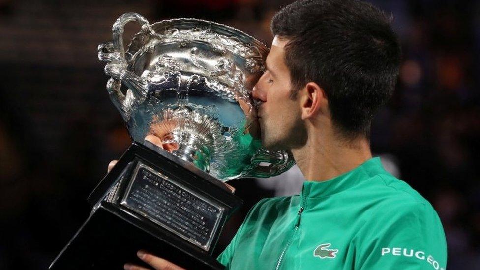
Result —
[[428, 202], [390, 202], [360, 230], [356, 269], [445, 270], [447, 244]]

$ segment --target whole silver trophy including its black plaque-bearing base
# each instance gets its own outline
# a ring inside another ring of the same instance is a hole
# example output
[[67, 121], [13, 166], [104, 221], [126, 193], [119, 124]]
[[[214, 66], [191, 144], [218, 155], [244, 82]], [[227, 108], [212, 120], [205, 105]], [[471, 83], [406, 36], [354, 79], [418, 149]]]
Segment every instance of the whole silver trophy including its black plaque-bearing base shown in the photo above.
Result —
[[[142, 25], [125, 52], [123, 27]], [[242, 201], [221, 182], [270, 177], [293, 159], [262, 148], [251, 91], [268, 48], [234, 28], [197, 19], [150, 25], [122, 15], [98, 46], [107, 90], [134, 140], [90, 194], [90, 217], [51, 269], [120, 269], [139, 249], [189, 269], [211, 257]], [[164, 149], [144, 141], [152, 135]]]

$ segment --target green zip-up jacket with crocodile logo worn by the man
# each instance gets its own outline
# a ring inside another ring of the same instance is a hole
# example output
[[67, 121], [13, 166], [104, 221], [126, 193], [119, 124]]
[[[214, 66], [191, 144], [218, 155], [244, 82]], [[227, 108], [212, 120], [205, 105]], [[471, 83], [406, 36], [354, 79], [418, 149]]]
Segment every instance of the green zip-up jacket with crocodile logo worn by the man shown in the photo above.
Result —
[[379, 158], [300, 195], [267, 198], [218, 257], [226, 269], [445, 269], [440, 219]]

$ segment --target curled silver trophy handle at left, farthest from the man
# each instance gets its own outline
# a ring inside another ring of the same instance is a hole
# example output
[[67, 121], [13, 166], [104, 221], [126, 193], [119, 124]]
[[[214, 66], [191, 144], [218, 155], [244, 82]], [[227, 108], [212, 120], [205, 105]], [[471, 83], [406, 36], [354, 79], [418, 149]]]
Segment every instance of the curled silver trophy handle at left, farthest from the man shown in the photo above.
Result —
[[[98, 45], [98, 59], [107, 62], [105, 74], [111, 77], [107, 83], [110, 99], [126, 121], [130, 119], [133, 107], [143, 102], [148, 92], [146, 80], [127, 70], [129, 61], [125, 59], [123, 27], [132, 21], [140, 23], [142, 30], [150, 32], [150, 24], [144, 17], [133, 12], [125, 13], [113, 25], [113, 41]], [[128, 88], [126, 94], [120, 90], [121, 83]]]

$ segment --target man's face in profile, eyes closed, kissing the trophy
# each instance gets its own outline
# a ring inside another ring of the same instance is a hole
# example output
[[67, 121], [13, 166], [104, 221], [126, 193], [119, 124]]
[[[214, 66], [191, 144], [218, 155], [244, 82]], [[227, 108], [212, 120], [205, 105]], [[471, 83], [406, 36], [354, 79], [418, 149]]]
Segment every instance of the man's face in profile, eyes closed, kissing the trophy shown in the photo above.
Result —
[[290, 150], [301, 141], [303, 122], [298, 98], [291, 98], [290, 71], [285, 63], [288, 40], [273, 39], [267, 56], [267, 71], [253, 88], [253, 97], [261, 104], [258, 120], [262, 145], [268, 150]]

